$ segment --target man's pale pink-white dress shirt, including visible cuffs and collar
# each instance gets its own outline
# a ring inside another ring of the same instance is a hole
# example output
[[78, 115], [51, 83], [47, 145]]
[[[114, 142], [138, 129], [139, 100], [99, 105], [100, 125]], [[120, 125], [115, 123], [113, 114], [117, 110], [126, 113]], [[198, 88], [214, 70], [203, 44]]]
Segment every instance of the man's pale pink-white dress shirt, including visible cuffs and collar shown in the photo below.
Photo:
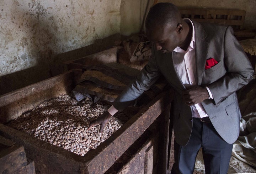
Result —
[[[188, 20], [192, 24], [192, 38], [190, 45], [187, 48], [187, 51], [182, 50], [180, 47], [176, 47], [175, 50], [172, 52], [173, 55], [173, 61], [174, 61], [174, 66], [177, 71], [177, 74], [180, 76], [180, 79], [185, 87], [190, 87], [192, 85], [197, 85], [197, 72], [196, 72], [196, 51], [195, 51], [195, 39], [194, 39], [194, 25], [192, 21], [188, 18], [185, 18], [184, 20]], [[212, 93], [210, 92], [209, 88], [206, 87], [210, 98], [212, 97]], [[193, 117], [207, 117], [208, 115], [206, 114], [206, 111], [203, 108], [202, 103], [198, 103], [195, 105], [192, 105], [192, 110], [193, 110]], [[116, 114], [118, 110], [114, 108], [112, 105], [109, 109], [108, 112], [111, 115]]]

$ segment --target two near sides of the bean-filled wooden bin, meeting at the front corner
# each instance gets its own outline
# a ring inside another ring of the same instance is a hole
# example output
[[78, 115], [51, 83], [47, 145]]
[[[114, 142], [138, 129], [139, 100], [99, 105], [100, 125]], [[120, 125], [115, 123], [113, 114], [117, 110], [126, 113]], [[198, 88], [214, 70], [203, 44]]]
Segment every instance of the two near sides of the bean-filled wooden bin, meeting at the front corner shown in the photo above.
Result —
[[41, 173], [104, 173], [161, 114], [172, 97], [163, 92], [84, 157], [0, 124], [0, 135], [25, 147]]

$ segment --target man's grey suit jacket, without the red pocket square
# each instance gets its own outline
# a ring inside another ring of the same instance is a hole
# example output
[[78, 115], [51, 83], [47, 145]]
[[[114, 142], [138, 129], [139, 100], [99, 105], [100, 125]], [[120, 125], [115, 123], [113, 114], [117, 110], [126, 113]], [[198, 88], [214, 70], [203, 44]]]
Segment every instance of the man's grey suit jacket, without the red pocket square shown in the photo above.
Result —
[[[241, 118], [236, 91], [252, 79], [254, 70], [231, 27], [192, 22], [195, 30], [197, 85], [208, 86], [213, 95], [213, 99], [206, 99], [202, 104], [219, 135], [232, 144], [239, 136]], [[205, 70], [208, 58], [214, 58], [218, 64]], [[186, 88], [174, 68], [172, 53], [164, 54], [153, 47], [149, 63], [113, 105], [122, 111], [130, 101], [148, 90], [161, 74], [175, 90], [175, 140], [184, 146], [192, 130], [192, 108], [182, 101], [182, 91]]]

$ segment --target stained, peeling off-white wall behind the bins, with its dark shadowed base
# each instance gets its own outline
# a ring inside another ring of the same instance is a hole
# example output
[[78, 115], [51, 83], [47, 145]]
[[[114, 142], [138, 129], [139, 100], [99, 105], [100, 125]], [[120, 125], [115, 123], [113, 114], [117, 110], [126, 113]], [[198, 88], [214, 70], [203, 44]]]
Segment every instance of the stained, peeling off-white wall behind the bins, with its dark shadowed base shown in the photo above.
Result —
[[61, 62], [111, 47], [120, 33], [120, 4], [1, 0], [0, 94], [58, 74]]

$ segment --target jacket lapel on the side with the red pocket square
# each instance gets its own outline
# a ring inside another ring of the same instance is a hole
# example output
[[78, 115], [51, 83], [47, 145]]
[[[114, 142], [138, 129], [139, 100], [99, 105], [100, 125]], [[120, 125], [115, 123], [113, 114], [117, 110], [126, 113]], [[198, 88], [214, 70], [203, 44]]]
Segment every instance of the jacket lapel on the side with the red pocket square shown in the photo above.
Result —
[[198, 22], [192, 21], [195, 29], [197, 85], [202, 84], [209, 43], [206, 31]]

